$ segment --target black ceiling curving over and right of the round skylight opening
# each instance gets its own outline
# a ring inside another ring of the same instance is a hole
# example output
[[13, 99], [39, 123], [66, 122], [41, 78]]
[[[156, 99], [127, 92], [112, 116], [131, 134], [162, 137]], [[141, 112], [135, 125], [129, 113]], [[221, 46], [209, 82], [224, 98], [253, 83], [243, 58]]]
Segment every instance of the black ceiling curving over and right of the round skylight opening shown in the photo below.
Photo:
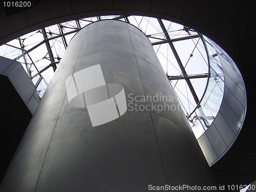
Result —
[[[238, 140], [212, 170], [220, 184], [248, 184], [256, 179], [254, 27], [256, 2], [186, 0], [34, 0], [25, 11], [0, 7], [0, 45], [56, 23], [96, 15], [145, 15], [172, 20], [216, 41], [237, 63], [247, 91], [247, 116]], [[19, 13], [18, 13], [19, 12]], [[10, 16], [7, 16], [10, 15]]]

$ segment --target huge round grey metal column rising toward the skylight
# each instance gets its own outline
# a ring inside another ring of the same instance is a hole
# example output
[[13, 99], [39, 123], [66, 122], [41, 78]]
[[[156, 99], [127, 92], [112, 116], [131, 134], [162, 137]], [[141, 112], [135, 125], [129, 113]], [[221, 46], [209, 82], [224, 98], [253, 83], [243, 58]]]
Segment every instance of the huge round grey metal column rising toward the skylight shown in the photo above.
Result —
[[70, 42], [1, 191], [179, 185], [216, 183], [150, 41], [117, 20], [83, 28]]

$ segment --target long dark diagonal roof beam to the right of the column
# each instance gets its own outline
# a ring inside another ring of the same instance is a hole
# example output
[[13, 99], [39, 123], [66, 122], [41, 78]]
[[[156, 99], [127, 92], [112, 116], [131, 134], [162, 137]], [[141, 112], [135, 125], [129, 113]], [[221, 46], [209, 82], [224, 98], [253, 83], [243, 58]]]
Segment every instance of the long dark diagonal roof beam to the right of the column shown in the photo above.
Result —
[[[165, 35], [165, 37], [166, 37], [166, 39], [167, 39], [167, 41], [168, 41], [168, 44], [169, 44], [170, 48], [172, 48], [172, 51], [173, 51], [173, 53], [174, 53], [174, 56], [175, 56], [175, 58], [176, 58], [176, 60], [177, 60], [177, 62], [178, 62], [178, 65], [179, 65], [179, 67], [180, 67], [180, 69], [181, 69], [181, 71], [182, 71], [182, 74], [183, 74], [184, 76], [186, 76], [186, 75], [187, 75], [186, 70], [185, 70], [185, 68], [183, 67], [182, 62], [181, 62], [181, 60], [180, 60], [180, 57], [179, 57], [179, 55], [178, 55], [178, 53], [177, 53], [177, 51], [176, 51], [176, 49], [175, 49], [175, 47], [174, 47], [174, 45], [173, 45], [173, 42], [171, 41], [171, 39], [170, 39], [170, 37], [169, 37], [169, 35], [168, 35], [168, 32], [167, 32], [167, 30], [165, 29], [164, 24], [163, 24], [163, 22], [162, 22], [162, 20], [161, 20], [160, 18], [158, 18], [158, 22], [159, 22], [159, 24], [160, 24], [160, 26], [161, 26], [161, 28], [162, 28], [162, 30], [163, 30], [163, 32], [164, 32], [164, 35]], [[188, 88], [189, 88], [189, 90], [191, 91], [191, 93], [192, 93], [192, 95], [193, 95], [193, 97], [194, 97], [196, 103], [198, 104], [198, 103], [199, 103], [199, 99], [198, 99], [198, 96], [197, 96], [197, 94], [196, 94], [196, 91], [195, 91], [194, 87], [192, 86], [191, 81], [190, 81], [188, 78], [185, 78], [185, 80], [186, 80], [186, 82], [187, 82]]]

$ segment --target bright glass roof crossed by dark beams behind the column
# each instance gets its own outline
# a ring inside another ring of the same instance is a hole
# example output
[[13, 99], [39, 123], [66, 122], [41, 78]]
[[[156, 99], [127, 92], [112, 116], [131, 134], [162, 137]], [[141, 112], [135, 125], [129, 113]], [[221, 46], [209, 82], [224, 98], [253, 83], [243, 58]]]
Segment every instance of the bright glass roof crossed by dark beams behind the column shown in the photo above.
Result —
[[101, 19], [119, 19], [139, 28], [152, 42], [186, 116], [196, 108], [206, 88], [208, 61], [195, 30], [146, 16], [95, 16], [38, 29], [0, 46], [0, 56], [14, 59], [37, 87], [40, 97], [58, 68], [71, 38], [82, 27]]

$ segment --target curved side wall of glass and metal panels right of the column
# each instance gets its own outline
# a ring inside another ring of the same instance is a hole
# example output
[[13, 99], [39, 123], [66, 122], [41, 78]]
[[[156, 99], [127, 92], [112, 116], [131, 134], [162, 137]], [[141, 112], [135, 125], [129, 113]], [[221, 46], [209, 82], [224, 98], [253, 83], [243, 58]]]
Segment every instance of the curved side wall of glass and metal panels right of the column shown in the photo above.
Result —
[[201, 102], [187, 119], [211, 166], [225, 155], [242, 129], [246, 93], [236, 63], [215, 42], [205, 36], [203, 40], [209, 81]]

